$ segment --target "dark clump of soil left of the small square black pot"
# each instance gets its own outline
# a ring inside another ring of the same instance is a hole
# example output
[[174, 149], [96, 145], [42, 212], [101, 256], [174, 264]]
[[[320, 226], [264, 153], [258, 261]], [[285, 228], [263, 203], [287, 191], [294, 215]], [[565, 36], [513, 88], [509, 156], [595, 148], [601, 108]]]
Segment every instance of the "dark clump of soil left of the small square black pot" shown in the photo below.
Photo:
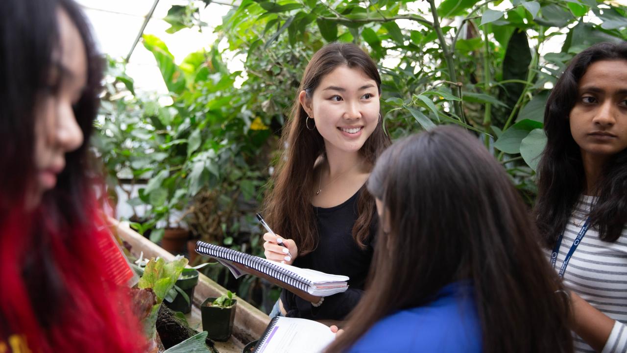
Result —
[[[196, 330], [191, 329], [186, 322], [176, 317], [174, 310], [167, 308], [165, 305], [161, 305], [159, 313], [157, 314], [157, 333], [165, 349], [174, 347], [189, 337], [198, 334]], [[207, 339], [204, 343], [212, 353], [218, 353], [218, 349], [214, 347], [213, 340]]]

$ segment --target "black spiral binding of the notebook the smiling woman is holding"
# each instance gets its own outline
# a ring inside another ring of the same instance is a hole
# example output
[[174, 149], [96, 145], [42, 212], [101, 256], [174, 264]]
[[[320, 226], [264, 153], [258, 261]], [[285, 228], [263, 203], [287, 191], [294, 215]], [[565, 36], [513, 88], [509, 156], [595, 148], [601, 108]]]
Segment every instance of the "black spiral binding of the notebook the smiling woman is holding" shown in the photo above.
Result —
[[241, 253], [240, 251], [229, 249], [208, 242], [196, 242], [196, 252], [206, 256], [217, 257], [243, 264], [250, 268], [256, 269], [262, 273], [268, 274], [277, 280], [287, 283], [290, 286], [308, 293], [308, 289], [313, 285], [312, 281], [307, 280], [292, 271], [268, 262], [266, 259], [257, 256]]

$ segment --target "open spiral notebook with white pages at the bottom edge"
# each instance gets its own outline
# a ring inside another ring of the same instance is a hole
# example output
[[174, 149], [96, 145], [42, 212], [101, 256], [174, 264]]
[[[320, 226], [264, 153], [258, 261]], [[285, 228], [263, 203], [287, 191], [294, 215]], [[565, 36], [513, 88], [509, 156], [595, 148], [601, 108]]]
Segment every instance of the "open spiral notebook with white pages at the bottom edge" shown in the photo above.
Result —
[[255, 353], [318, 353], [335, 339], [324, 323], [305, 318], [275, 317], [261, 335]]

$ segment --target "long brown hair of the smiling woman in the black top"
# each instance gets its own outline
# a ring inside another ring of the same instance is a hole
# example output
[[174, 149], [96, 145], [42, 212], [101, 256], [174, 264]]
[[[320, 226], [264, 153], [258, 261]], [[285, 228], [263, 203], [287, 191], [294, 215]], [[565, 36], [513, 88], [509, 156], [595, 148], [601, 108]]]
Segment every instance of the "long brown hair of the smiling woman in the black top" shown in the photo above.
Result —
[[[307, 112], [298, 101], [298, 94], [305, 91], [312, 97], [320, 81], [340, 65], [359, 68], [377, 83], [381, 94], [381, 77], [377, 66], [359, 46], [350, 43], [330, 43], [315, 53], [300, 81], [290, 119], [283, 127], [280, 146], [286, 146], [273, 176], [274, 187], [266, 195], [263, 213], [273, 230], [298, 244], [298, 253], [307, 254], [317, 246], [318, 235], [311, 199], [314, 188], [314, 164], [324, 156], [324, 139], [317, 129], [305, 126]], [[359, 150], [369, 165], [390, 144], [379, 119], [377, 127]], [[359, 217], [352, 229], [357, 244], [363, 245], [369, 236], [369, 225], [374, 214], [374, 198], [362, 188], [357, 201]]]

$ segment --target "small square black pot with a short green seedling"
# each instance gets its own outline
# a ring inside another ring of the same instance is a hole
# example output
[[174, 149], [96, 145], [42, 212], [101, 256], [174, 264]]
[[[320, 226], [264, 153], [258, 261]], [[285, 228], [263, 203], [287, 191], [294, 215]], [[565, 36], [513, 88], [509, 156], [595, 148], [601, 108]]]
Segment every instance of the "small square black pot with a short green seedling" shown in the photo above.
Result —
[[233, 296], [234, 293], [226, 291], [225, 295], [218, 298], [207, 298], [201, 305], [203, 330], [208, 332], [210, 339], [224, 342], [231, 337], [237, 304]]

